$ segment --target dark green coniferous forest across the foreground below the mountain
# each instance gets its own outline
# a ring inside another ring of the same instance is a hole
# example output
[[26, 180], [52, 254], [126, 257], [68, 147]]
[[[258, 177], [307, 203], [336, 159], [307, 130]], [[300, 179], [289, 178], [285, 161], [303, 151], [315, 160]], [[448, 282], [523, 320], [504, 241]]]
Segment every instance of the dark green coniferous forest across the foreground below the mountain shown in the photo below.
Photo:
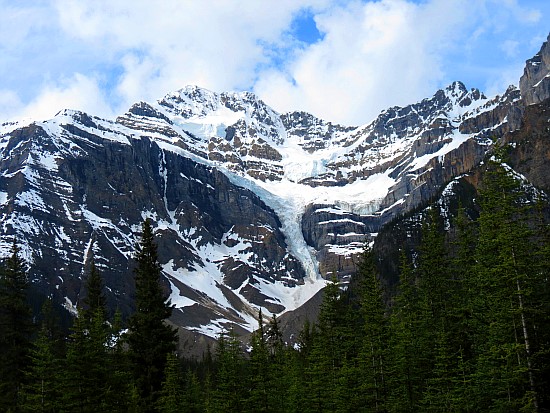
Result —
[[[550, 227], [547, 200], [488, 161], [452, 236], [439, 209], [401, 248], [389, 283], [366, 248], [346, 288], [324, 291], [296, 344], [276, 317], [250, 343], [232, 331], [200, 360], [177, 356], [149, 221], [135, 253], [135, 312], [108, 317], [101, 274], [70, 333], [46, 300], [33, 320], [17, 243], [0, 277], [0, 411], [545, 412], [550, 411]], [[472, 216], [474, 215], [474, 216]]]

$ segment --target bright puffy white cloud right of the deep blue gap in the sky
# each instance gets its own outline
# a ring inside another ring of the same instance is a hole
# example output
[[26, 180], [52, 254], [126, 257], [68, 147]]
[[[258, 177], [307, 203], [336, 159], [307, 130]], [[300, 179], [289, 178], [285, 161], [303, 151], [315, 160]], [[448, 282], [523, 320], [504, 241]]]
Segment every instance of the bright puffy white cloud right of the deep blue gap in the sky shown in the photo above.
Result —
[[441, 52], [465, 19], [461, 4], [353, 2], [318, 15], [324, 39], [304, 50], [287, 73], [260, 77], [255, 90], [279, 109], [305, 108], [346, 124], [370, 121], [388, 106], [435, 91], [443, 75]]

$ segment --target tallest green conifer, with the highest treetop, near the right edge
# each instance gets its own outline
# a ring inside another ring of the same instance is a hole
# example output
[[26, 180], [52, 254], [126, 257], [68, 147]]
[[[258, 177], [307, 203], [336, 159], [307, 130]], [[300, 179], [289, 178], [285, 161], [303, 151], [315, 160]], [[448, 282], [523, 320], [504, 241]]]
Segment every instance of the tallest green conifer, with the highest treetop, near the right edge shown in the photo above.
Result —
[[476, 288], [477, 406], [538, 409], [533, 371], [533, 248], [525, 193], [500, 161], [488, 164], [481, 193]]

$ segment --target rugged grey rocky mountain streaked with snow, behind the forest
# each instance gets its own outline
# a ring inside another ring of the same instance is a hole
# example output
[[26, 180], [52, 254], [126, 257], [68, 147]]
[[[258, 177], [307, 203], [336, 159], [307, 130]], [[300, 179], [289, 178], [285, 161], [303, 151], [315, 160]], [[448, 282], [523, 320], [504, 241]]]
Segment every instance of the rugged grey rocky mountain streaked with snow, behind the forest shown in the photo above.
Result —
[[[487, 98], [455, 82], [342, 126], [277, 113], [248, 93], [190, 86], [116, 120], [78, 111], [0, 127], [0, 248], [20, 242], [33, 282], [67, 308], [95, 256], [129, 311], [140, 223], [153, 221], [173, 321], [250, 331], [257, 310], [301, 307], [353, 273], [365, 242], [433, 197], [550, 97], [548, 42], [520, 89]], [[535, 70], [536, 69], [536, 70]]]

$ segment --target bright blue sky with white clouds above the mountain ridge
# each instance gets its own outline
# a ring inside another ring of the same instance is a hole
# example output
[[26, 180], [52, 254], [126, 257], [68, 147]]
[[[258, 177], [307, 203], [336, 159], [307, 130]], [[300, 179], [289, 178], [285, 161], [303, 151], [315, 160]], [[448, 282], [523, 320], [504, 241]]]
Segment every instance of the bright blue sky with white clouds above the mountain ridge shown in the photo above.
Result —
[[518, 84], [548, 0], [0, 0], [0, 122], [115, 117], [188, 84], [359, 125], [454, 80]]

